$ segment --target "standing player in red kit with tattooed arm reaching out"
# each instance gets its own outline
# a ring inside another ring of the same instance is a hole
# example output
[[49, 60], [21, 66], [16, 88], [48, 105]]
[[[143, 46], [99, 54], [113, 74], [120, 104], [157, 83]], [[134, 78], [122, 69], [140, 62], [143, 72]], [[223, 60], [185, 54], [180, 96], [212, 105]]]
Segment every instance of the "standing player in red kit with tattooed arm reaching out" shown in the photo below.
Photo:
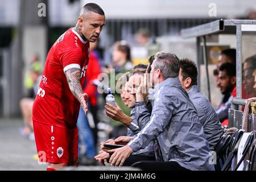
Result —
[[86, 4], [76, 27], [69, 28], [50, 49], [35, 98], [32, 120], [40, 162], [48, 171], [78, 165], [80, 105], [87, 113], [88, 96], [82, 91], [89, 61], [89, 42], [96, 42], [105, 25], [104, 11]]

